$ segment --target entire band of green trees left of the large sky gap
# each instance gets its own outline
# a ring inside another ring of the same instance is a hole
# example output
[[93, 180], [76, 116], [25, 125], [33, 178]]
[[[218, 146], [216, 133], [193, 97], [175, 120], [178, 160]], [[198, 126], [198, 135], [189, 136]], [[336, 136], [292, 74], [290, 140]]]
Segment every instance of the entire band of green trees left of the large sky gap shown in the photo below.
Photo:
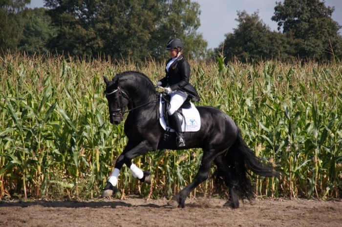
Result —
[[166, 42], [180, 38], [184, 55], [200, 59], [207, 41], [199, 4], [191, 0], [45, 0], [46, 8], [27, 9], [29, 0], [1, 2], [0, 48], [34, 53], [106, 57], [111, 60], [165, 61]]

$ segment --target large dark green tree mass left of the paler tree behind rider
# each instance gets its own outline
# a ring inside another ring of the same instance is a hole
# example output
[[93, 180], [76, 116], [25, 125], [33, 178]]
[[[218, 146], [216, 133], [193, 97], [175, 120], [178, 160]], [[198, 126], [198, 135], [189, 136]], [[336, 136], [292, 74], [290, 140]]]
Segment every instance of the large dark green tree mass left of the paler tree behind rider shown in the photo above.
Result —
[[71, 56], [99, 54], [137, 61], [148, 56], [147, 43], [158, 10], [155, 0], [46, 0], [57, 27], [51, 50]]

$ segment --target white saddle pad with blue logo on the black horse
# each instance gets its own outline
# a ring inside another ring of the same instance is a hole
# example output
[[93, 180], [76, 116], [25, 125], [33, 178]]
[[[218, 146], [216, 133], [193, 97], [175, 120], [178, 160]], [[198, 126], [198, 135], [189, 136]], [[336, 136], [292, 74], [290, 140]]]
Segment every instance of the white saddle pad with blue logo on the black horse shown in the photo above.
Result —
[[[161, 118], [159, 119], [160, 124], [162, 127], [166, 130], [169, 129], [171, 132], [174, 132], [174, 130], [166, 125], [166, 121], [164, 119], [164, 110], [163, 105], [164, 101], [162, 101], [162, 98], [160, 98], [159, 103], [159, 112]], [[194, 104], [191, 104], [191, 108], [189, 109], [182, 109], [183, 112], [183, 124], [182, 124], [182, 131], [183, 132], [196, 132], [201, 128], [201, 118], [199, 117], [199, 113], [197, 108]]]

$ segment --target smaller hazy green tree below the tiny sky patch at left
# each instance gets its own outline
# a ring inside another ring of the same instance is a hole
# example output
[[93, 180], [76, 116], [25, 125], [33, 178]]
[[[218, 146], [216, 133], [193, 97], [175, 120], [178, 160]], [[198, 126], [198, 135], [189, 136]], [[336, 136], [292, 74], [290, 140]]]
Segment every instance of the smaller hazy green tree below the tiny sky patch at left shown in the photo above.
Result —
[[51, 26], [51, 19], [46, 14], [47, 9], [25, 9], [19, 13], [23, 21], [23, 29], [18, 49], [29, 55], [35, 53], [47, 54], [47, 41], [55, 36], [55, 29]]

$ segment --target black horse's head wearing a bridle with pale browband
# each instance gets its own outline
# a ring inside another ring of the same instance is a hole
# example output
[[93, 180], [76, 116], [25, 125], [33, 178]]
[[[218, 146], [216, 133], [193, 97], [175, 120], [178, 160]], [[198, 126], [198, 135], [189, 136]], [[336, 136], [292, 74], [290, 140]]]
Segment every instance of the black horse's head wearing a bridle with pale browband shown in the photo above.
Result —
[[124, 120], [124, 110], [126, 109], [129, 97], [127, 93], [118, 86], [118, 79], [109, 81], [103, 77], [106, 83], [106, 98], [109, 107], [109, 120], [111, 124], [120, 124]]

